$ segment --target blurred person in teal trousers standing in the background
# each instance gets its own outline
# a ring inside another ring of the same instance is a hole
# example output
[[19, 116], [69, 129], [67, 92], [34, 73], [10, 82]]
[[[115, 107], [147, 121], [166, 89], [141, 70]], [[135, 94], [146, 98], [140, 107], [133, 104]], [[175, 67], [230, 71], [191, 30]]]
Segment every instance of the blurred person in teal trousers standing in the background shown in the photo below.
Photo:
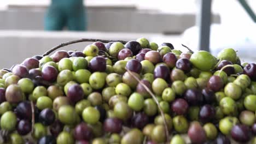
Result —
[[44, 18], [46, 31], [85, 31], [87, 29], [83, 0], [51, 0]]

